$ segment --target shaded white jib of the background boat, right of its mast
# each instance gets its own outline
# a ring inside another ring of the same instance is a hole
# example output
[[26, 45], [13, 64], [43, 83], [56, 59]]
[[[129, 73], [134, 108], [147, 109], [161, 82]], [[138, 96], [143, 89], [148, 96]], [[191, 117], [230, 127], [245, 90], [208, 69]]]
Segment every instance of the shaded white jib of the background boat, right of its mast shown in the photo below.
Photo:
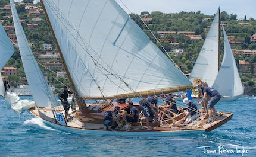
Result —
[[224, 56], [213, 87], [220, 92], [220, 95], [229, 96], [229, 100], [235, 100], [242, 96], [243, 86], [224, 27], [222, 27], [222, 30], [224, 34]]

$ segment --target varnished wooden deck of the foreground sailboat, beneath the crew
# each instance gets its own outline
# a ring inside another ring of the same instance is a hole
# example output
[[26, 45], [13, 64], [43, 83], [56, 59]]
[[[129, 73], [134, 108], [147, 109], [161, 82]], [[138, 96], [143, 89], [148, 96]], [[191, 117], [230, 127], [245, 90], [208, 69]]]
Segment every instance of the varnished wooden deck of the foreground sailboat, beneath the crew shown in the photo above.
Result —
[[[70, 117], [68, 117], [66, 123], [66, 127], [71, 127], [74, 129], [85, 129], [85, 130], [105, 130], [105, 126], [103, 124], [104, 117], [107, 115], [108, 110], [113, 110], [113, 107], [102, 107], [102, 104], [88, 104], [88, 107], [98, 108], [99, 110], [88, 112], [88, 113], [79, 113], [78, 111], [71, 111], [70, 108]], [[127, 108], [126, 104], [121, 104], [121, 108]], [[78, 109], [78, 108], [76, 108]], [[58, 113], [64, 114], [64, 108], [60, 105], [59, 107], [55, 107], [55, 111]], [[54, 113], [51, 110], [51, 107], [46, 108], [32, 108], [30, 112], [34, 114], [36, 117], [42, 118], [50, 123], [57, 124]], [[204, 130], [205, 132], [210, 132], [211, 130], [216, 129], [224, 123], [229, 121], [233, 114], [232, 113], [223, 113], [222, 116], [216, 118], [212, 123], [207, 124], [204, 118], [199, 117], [192, 123], [188, 125], [177, 125], [173, 123], [173, 120], [166, 120], [164, 125], [160, 125], [160, 123], [150, 123], [152, 130], [148, 131], [145, 127], [142, 127], [141, 124], [138, 123], [130, 123], [129, 129], [126, 129], [126, 132], [172, 132], [172, 131], [182, 131], [182, 130]], [[202, 113], [202, 115], [204, 115]], [[180, 120], [183, 118], [182, 113], [174, 117], [175, 120]], [[167, 122], [169, 122], [167, 124]], [[145, 126], [145, 123], [143, 123]], [[116, 129], [116, 131], [124, 131], [122, 129]]]

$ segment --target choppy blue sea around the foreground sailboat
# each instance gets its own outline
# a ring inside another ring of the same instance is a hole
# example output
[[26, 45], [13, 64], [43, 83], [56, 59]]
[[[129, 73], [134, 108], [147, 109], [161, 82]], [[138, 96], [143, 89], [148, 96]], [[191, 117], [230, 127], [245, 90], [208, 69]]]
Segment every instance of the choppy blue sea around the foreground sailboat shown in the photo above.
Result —
[[255, 105], [256, 97], [218, 102], [217, 111], [234, 114], [218, 129], [146, 138], [61, 132], [28, 113], [15, 114], [0, 98], [0, 156], [256, 156]]

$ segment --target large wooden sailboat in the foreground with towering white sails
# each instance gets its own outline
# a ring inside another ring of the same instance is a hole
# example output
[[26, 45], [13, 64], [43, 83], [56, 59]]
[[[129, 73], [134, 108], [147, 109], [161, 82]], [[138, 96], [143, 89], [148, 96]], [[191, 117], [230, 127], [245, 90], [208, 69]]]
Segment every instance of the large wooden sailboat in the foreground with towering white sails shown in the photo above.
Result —
[[[76, 100], [76, 110], [70, 111], [69, 119], [64, 118], [63, 106], [55, 102], [47, 88], [14, 2], [10, 0], [24, 71], [36, 102], [29, 112], [49, 126], [86, 135], [176, 136], [210, 132], [232, 118], [232, 113], [221, 112], [221, 116], [210, 124], [198, 118], [186, 126], [176, 126], [174, 122], [183, 118], [181, 110], [161, 123], [152, 122], [152, 130], [144, 129], [140, 123], [119, 123], [118, 119], [117, 129], [106, 130], [102, 121], [108, 111], [113, 111], [115, 106], [127, 110], [128, 104], [89, 103], [88, 100], [111, 101], [168, 94], [193, 88], [191, 82], [114, 0], [83, 0], [84, 5], [80, 5], [81, 1], [68, 0], [40, 2]], [[138, 103], [135, 106], [140, 110]]]

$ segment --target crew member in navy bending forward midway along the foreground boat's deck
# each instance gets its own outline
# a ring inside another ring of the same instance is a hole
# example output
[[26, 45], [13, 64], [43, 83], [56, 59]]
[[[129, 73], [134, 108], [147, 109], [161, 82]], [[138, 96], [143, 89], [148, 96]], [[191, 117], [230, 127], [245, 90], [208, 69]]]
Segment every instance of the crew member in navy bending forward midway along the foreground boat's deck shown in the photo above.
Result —
[[[148, 97], [146, 100], [140, 101], [142, 112], [144, 116], [146, 117], [146, 127], [149, 129], [149, 116], [155, 116], [155, 121], [157, 121], [158, 115], [157, 115], [157, 97]], [[143, 120], [143, 119], [141, 119]]]

